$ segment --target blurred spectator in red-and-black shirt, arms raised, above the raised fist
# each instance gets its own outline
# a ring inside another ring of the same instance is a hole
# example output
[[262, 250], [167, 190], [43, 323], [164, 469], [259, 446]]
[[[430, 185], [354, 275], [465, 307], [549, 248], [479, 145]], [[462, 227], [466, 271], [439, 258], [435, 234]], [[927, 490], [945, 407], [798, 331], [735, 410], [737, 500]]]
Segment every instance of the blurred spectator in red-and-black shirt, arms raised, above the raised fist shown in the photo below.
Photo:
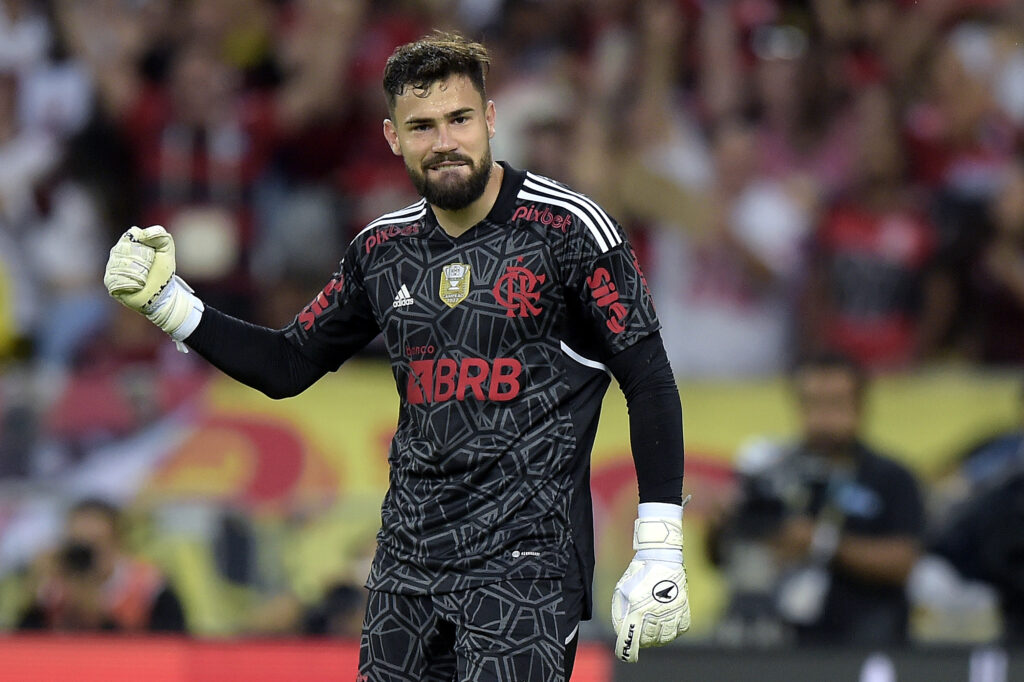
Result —
[[163, 39], [146, 35], [141, 14], [70, 3], [59, 16], [91, 68], [106, 115], [134, 152], [140, 224], [166, 225], [182, 274], [200, 288], [215, 284], [208, 295], [224, 300], [214, 304], [245, 313], [255, 293], [257, 182], [287, 136], [344, 103], [338, 93], [366, 3], [294, 3], [282, 54], [289, 71], [268, 92], [247, 90], [237, 65], [265, 49], [269, 3], [187, 7], [188, 37], [170, 50], [166, 82], [147, 82], [140, 71], [146, 50], [160, 45], [146, 40]]

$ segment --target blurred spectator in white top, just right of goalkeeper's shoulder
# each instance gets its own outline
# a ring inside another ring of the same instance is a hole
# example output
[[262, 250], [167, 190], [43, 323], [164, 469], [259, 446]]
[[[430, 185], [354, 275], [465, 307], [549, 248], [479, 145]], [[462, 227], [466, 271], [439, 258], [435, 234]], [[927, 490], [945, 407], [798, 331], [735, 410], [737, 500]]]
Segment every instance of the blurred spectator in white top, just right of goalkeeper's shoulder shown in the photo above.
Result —
[[652, 237], [650, 282], [666, 346], [684, 376], [775, 374], [792, 347], [809, 217], [793, 187], [758, 174], [752, 126], [723, 122], [713, 143], [720, 215], [702, 231], [662, 227]]

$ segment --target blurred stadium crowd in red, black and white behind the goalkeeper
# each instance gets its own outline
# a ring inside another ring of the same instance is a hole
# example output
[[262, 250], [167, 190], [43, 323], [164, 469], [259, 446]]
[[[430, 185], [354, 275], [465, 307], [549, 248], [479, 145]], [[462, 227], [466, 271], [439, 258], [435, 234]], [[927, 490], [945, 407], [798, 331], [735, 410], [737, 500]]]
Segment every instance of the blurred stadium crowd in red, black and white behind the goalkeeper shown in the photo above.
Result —
[[[205, 372], [106, 296], [126, 227], [165, 225], [204, 300], [276, 327], [362, 225], [414, 200], [380, 79], [433, 28], [493, 52], [495, 157], [628, 227], [681, 378], [775, 377], [824, 348], [874, 373], [1024, 364], [1024, 3], [0, 0], [8, 498]], [[69, 394], [83, 380], [115, 381], [129, 414], [61, 421], [105, 395]], [[272, 551], [232, 522], [223, 552]], [[24, 563], [0, 571], [17, 602], [39, 587]], [[351, 634], [357, 582], [206, 631]]]

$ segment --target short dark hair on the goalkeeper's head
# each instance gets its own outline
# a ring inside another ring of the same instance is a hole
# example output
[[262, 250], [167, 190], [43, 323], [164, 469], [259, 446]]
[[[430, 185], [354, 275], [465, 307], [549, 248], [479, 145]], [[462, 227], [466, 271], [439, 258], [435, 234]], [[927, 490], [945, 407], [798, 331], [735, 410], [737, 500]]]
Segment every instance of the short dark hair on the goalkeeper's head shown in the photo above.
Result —
[[466, 76], [482, 99], [487, 98], [485, 80], [490, 56], [487, 48], [460, 33], [434, 31], [413, 43], [395, 48], [384, 67], [384, 95], [387, 111], [407, 87], [426, 90], [450, 76]]

